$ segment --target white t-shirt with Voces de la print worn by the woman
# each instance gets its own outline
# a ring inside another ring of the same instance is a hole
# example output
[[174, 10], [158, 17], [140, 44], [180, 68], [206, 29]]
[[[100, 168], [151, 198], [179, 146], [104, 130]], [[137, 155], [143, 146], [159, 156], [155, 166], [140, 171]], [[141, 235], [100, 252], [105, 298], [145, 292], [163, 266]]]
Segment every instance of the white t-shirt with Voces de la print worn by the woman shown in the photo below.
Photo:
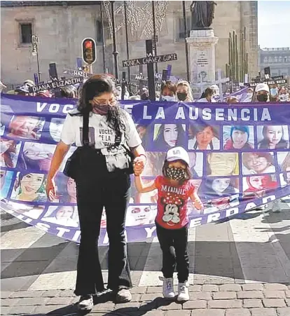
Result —
[[[137, 132], [134, 122], [125, 110], [120, 109], [124, 118], [125, 131], [122, 133], [120, 144], [127, 144], [129, 147], [137, 147], [141, 144], [141, 138]], [[70, 112], [71, 114], [78, 113], [77, 110]], [[125, 134], [125, 135], [124, 135]], [[67, 114], [62, 128], [60, 139], [64, 144], [82, 146], [83, 142], [83, 116], [71, 116]], [[89, 141], [92, 146], [95, 144], [95, 149], [105, 149], [115, 144], [115, 131], [109, 128], [106, 116], [99, 114], [90, 114], [89, 116]]]

